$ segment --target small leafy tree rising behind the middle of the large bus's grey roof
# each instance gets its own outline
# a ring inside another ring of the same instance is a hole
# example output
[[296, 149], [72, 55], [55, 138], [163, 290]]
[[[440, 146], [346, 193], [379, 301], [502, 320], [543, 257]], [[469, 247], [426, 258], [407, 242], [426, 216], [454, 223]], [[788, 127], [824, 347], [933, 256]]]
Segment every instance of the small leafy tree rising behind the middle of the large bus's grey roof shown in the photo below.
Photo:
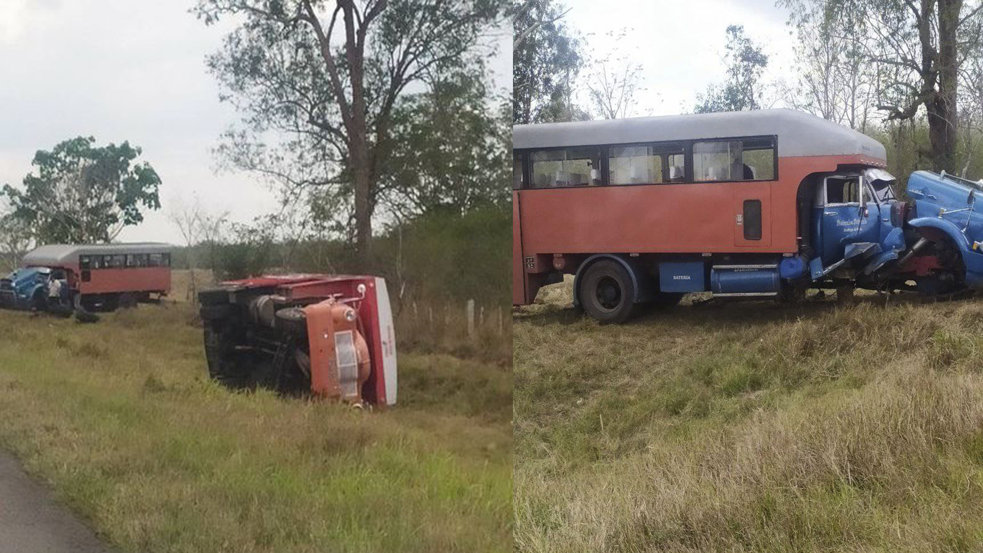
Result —
[[768, 55], [744, 34], [743, 26], [728, 26], [726, 32], [723, 61], [727, 68], [727, 81], [723, 85], [711, 85], [706, 93], [697, 94], [696, 113], [761, 108], [757, 87], [761, 74], [768, 66]]

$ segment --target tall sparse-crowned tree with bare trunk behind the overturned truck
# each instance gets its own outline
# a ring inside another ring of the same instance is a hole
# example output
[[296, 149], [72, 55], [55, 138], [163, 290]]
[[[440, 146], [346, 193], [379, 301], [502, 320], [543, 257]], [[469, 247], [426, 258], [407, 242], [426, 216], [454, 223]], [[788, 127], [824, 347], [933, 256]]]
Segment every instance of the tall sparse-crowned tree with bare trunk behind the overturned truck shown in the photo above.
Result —
[[[503, 1], [200, 0], [205, 24], [245, 20], [208, 59], [222, 98], [246, 114], [246, 128], [226, 137], [229, 159], [289, 186], [350, 195], [368, 264], [397, 100], [434, 74], [468, 66]], [[265, 146], [270, 131], [287, 137], [281, 148]]]

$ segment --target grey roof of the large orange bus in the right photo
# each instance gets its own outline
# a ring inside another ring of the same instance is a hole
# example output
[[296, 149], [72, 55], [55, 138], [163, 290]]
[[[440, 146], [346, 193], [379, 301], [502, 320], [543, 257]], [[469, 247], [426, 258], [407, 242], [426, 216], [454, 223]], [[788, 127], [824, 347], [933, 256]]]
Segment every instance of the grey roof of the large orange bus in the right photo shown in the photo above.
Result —
[[779, 137], [780, 156], [862, 154], [887, 159], [884, 145], [876, 140], [794, 109], [516, 125], [512, 127], [512, 148], [526, 150], [761, 135]]

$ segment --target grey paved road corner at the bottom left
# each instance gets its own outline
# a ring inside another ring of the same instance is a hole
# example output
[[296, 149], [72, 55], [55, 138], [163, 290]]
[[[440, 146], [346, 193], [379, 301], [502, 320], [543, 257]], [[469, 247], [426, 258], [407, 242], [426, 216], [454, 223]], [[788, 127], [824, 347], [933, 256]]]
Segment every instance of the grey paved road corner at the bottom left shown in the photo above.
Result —
[[112, 553], [92, 530], [59, 505], [0, 451], [0, 551], [3, 553]]

